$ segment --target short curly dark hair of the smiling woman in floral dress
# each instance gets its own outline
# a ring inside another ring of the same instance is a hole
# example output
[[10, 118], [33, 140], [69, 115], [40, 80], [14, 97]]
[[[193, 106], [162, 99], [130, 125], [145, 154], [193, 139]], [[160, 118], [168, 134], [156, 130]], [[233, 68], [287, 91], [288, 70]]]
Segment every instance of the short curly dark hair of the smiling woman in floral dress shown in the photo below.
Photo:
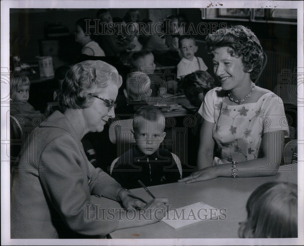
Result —
[[206, 49], [212, 57], [216, 48], [230, 47], [228, 53], [231, 56], [242, 56], [244, 72], [250, 72], [251, 79], [260, 73], [264, 58], [263, 49], [257, 36], [249, 28], [241, 25], [221, 28], [213, 34], [208, 34], [206, 42]]

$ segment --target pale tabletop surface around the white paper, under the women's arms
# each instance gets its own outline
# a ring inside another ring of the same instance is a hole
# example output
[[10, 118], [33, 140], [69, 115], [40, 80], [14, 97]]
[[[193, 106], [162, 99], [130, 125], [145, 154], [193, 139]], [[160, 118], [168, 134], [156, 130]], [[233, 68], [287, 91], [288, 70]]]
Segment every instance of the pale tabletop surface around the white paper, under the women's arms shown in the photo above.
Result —
[[[271, 181], [297, 183], [297, 165], [281, 166], [276, 176], [215, 178], [192, 184], [172, 183], [149, 187], [155, 196], [168, 197], [171, 208], [203, 202], [214, 208], [226, 209], [227, 218], [204, 220], [176, 230], [160, 221], [143, 227], [116, 230], [110, 236], [112, 238], [238, 238], [239, 222], [247, 218], [247, 199], [259, 185]], [[144, 189], [133, 189], [132, 192], [149, 200]], [[96, 199], [92, 199], [93, 203], [103, 204], [104, 207], [120, 207], [112, 200]]]

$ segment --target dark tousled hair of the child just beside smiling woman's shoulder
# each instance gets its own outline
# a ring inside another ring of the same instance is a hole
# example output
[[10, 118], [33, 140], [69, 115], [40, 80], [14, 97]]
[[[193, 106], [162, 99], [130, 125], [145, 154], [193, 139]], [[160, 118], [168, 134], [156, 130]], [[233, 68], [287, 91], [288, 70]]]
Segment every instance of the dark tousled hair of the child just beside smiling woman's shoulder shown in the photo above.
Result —
[[204, 94], [213, 88], [214, 78], [207, 71], [195, 71], [185, 76], [182, 87], [184, 91], [193, 85], [196, 88], [203, 89]]

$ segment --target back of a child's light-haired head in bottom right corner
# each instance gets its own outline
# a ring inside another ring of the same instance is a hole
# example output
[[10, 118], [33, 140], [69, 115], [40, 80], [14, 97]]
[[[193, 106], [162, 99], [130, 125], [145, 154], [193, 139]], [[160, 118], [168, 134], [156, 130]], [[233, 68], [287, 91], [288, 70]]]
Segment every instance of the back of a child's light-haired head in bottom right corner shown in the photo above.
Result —
[[240, 238], [298, 237], [298, 186], [268, 182], [252, 192], [247, 201], [247, 221]]

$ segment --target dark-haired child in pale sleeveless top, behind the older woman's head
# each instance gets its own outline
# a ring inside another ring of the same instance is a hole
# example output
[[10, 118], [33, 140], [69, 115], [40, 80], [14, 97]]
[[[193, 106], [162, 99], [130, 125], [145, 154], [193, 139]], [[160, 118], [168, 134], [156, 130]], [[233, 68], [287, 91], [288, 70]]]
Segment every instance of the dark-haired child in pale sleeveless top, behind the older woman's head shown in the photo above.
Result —
[[82, 45], [81, 54], [86, 54], [89, 56], [105, 56], [105, 52], [99, 47], [98, 43], [92, 40], [92, 35], [85, 34], [86, 32], [90, 31], [87, 30], [87, 23], [85, 19], [90, 18], [82, 18], [75, 23], [75, 40]]

